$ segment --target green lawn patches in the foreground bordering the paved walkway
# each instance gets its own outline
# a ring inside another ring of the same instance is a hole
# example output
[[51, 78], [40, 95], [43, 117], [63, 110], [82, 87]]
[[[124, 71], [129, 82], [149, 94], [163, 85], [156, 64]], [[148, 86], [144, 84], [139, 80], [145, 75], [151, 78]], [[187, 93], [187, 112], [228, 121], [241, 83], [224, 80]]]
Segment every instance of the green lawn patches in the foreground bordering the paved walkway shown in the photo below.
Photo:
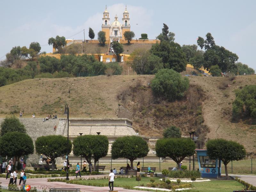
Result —
[[[155, 179], [155, 182], [159, 180], [158, 177], [141, 177], [140, 186], [144, 185], [146, 187], [147, 183], [150, 182], [150, 179]], [[108, 186], [108, 179], [100, 179], [100, 180], [74, 180], [72, 181], [74, 184], [80, 185], [90, 185], [90, 186]], [[180, 183], [185, 184], [185, 183]], [[133, 178], [116, 178], [114, 182], [115, 187], [129, 187], [132, 189], [138, 185], [138, 181]], [[242, 190], [243, 185], [235, 180], [212, 180], [206, 182], [194, 182], [195, 189], [186, 190], [188, 192], [230, 192], [233, 190]]]

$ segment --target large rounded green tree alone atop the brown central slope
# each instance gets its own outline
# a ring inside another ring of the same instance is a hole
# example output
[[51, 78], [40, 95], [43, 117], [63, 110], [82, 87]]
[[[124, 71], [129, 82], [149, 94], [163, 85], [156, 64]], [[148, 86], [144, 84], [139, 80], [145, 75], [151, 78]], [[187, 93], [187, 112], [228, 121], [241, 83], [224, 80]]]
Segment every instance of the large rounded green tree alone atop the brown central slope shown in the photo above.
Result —
[[182, 98], [188, 87], [188, 78], [172, 69], [160, 69], [151, 81], [153, 93], [170, 101]]

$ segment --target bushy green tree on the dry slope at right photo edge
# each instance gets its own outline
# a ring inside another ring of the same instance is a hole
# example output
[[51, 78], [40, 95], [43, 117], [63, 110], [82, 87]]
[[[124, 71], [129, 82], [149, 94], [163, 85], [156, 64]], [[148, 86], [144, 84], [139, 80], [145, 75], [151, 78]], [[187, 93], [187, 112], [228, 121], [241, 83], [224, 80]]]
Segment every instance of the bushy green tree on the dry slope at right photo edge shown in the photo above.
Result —
[[256, 85], [247, 85], [236, 90], [236, 99], [233, 102], [233, 114], [256, 117]]

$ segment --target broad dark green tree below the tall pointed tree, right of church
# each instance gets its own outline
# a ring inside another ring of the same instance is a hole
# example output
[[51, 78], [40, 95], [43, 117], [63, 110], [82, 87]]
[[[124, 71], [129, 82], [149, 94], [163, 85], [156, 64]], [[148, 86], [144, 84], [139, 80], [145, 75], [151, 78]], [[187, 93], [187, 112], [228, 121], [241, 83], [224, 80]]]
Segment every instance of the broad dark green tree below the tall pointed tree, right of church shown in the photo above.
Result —
[[150, 52], [162, 59], [164, 68], [172, 68], [177, 72], [186, 70], [186, 55], [178, 43], [161, 41], [153, 44]]

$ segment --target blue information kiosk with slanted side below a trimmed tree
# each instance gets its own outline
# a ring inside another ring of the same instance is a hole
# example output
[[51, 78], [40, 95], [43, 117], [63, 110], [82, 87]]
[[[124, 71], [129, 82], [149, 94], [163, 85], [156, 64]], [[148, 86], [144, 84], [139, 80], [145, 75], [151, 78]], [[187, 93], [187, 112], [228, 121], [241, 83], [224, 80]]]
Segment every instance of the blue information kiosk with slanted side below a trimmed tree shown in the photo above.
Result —
[[[217, 178], [221, 174], [221, 160], [210, 159], [206, 149], [196, 149], [199, 171], [202, 178]], [[218, 166], [220, 164], [220, 167]]]

